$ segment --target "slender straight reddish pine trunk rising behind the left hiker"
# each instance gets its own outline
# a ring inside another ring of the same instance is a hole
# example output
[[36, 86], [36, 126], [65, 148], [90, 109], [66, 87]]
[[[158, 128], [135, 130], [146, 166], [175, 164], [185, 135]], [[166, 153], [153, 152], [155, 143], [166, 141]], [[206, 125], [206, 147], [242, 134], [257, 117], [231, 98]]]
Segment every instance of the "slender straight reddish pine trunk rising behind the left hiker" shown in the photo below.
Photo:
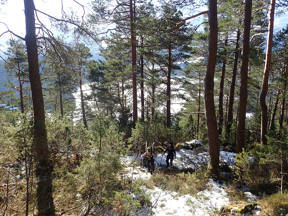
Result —
[[138, 118], [137, 108], [137, 77], [136, 77], [136, 46], [135, 46], [135, 33], [134, 33], [134, 19], [133, 19], [133, 3], [130, 0], [130, 31], [131, 31], [131, 66], [132, 66], [132, 97], [133, 97], [133, 128], [136, 126]]

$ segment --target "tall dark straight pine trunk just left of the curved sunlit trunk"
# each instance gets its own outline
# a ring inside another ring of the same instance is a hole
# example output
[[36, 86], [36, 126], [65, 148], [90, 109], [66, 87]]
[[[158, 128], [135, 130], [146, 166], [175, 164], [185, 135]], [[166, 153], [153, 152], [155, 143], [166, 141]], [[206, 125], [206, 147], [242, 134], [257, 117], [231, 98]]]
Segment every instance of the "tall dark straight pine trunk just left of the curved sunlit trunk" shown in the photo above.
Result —
[[249, 62], [249, 40], [251, 30], [252, 0], [245, 1], [244, 31], [242, 42], [242, 56], [240, 67], [240, 93], [237, 120], [236, 154], [242, 152], [245, 147], [245, 120], [248, 97], [248, 62]]

